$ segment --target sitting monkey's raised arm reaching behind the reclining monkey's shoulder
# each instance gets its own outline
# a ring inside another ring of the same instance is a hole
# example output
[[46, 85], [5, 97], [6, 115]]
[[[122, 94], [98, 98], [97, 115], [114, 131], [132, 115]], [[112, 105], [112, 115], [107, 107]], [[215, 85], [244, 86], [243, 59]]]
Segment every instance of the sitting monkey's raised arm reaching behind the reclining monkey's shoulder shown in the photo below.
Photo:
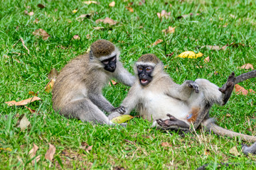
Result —
[[114, 71], [114, 78], [126, 86], [132, 86], [135, 81], [135, 77], [129, 73], [127, 69], [124, 69], [121, 62], [117, 63], [117, 69]]

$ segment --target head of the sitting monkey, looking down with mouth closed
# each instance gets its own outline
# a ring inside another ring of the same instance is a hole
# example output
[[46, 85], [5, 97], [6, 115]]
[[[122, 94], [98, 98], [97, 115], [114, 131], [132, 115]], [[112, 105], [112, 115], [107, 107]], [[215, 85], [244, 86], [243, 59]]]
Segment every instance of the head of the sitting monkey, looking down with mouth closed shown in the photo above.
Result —
[[107, 72], [114, 72], [119, 55], [117, 47], [107, 40], [97, 40], [90, 47], [90, 61], [97, 63], [97, 67], [104, 68]]

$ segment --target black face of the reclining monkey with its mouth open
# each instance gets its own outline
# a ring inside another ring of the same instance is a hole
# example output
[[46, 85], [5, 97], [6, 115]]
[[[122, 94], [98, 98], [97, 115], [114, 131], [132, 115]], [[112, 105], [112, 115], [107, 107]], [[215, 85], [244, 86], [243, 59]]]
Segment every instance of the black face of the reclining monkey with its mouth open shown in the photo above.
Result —
[[142, 84], [142, 86], [148, 85], [153, 79], [151, 73], [153, 72], [154, 67], [139, 65], [137, 68], [140, 84]]

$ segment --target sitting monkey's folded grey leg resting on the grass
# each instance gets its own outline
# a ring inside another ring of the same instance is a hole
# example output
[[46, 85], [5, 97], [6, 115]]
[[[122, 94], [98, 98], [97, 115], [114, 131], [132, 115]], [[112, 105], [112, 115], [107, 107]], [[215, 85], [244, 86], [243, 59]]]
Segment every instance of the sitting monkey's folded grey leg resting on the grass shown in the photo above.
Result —
[[112, 125], [113, 123], [107, 118], [105, 113], [92, 103], [88, 98], [80, 99], [68, 103], [60, 110], [60, 114], [78, 118], [83, 122], [93, 122], [100, 124]]

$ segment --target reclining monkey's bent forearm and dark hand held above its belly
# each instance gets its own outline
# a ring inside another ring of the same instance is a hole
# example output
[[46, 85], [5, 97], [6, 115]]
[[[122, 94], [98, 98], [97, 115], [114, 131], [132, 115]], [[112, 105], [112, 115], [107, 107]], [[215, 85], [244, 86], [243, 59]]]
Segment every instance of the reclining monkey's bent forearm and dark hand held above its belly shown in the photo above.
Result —
[[194, 81], [186, 80], [181, 85], [172, 82], [166, 94], [181, 101], [186, 101], [191, 96], [193, 90], [196, 93], [199, 92], [199, 86]]

